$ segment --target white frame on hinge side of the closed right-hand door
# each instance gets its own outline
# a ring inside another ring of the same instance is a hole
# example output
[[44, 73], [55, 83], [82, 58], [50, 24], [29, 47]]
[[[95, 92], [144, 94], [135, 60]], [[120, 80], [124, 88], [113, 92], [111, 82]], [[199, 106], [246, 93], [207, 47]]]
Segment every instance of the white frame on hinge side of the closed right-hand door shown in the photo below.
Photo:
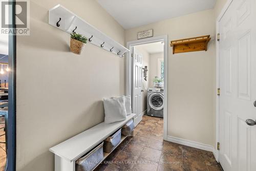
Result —
[[[219, 29], [220, 29], [220, 22], [222, 17], [224, 16], [224, 14], [226, 13], [228, 7], [230, 6], [230, 4], [233, 2], [233, 0], [227, 0], [226, 4], [224, 5], [224, 7], [222, 8], [219, 16], [217, 17], [216, 20], [216, 35], [218, 35], [218, 33], [220, 33]], [[217, 40], [217, 38], [216, 38]], [[216, 90], [220, 88], [220, 41], [216, 41]], [[217, 95], [216, 93], [216, 125], [215, 125], [215, 131], [216, 131], [216, 140], [215, 140], [215, 144], [216, 144], [216, 148], [217, 148], [217, 144], [218, 142], [220, 142], [220, 96]], [[214, 155], [216, 160], [219, 162], [219, 151], [218, 149], [214, 148]]]

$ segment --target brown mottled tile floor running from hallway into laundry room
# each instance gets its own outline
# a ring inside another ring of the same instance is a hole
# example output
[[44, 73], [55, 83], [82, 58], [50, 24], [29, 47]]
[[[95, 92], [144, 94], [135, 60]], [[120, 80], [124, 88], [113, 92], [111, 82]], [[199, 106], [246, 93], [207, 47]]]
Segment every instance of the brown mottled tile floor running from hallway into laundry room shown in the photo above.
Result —
[[143, 116], [135, 136], [127, 137], [96, 170], [221, 171], [211, 152], [163, 141], [163, 119]]

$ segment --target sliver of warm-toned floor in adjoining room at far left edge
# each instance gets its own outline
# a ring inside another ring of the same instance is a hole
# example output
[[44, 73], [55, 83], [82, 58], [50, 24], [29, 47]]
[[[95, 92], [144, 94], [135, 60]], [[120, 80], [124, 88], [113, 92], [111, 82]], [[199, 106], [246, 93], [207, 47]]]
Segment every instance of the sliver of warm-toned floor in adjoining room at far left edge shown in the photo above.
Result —
[[[0, 122], [4, 122], [4, 120], [0, 119]], [[3, 127], [4, 124], [0, 124], [0, 127]], [[0, 135], [4, 134], [4, 130], [1, 129], [0, 130]], [[0, 142], [5, 142], [5, 136], [1, 136], [0, 137]], [[6, 148], [5, 148], [5, 144], [0, 143], [0, 171], [4, 171], [5, 170], [5, 164], [6, 164]]]

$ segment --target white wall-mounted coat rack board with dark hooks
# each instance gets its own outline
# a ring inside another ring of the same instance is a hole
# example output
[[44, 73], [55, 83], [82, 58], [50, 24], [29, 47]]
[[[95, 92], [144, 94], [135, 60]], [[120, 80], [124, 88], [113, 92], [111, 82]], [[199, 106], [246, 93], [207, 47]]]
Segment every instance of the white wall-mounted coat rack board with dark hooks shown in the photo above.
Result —
[[[59, 18], [61, 18], [59, 22], [60, 26], [57, 27], [56, 23], [59, 21]], [[82, 34], [88, 39], [93, 36], [92, 41], [90, 42], [91, 44], [100, 47], [100, 45], [104, 42], [102, 49], [110, 52], [110, 49], [114, 47], [111, 53], [117, 55], [117, 53], [120, 51], [120, 54], [118, 55], [120, 57], [122, 57], [122, 55], [126, 52], [130, 52], [129, 49], [125, 48], [117, 41], [105, 35], [94, 26], [90, 25], [85, 20], [75, 15], [73, 12], [69, 11], [60, 4], [49, 10], [49, 25], [52, 25], [67, 33], [72, 33], [73, 30], [77, 27], [75, 30], [76, 33]]]

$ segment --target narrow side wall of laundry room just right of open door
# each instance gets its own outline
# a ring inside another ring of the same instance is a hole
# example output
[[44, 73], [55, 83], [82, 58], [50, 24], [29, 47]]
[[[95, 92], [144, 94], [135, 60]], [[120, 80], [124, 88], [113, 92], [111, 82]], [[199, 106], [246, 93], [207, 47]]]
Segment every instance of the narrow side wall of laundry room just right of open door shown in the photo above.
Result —
[[[147, 51], [145, 51], [145, 49], [143, 47], [141, 47], [140, 45], [135, 46], [135, 48], [142, 54], [142, 66], [143, 68], [145, 66], [150, 65], [150, 54], [147, 53]], [[147, 88], [149, 86], [149, 75], [150, 75], [150, 71], [147, 72], [147, 80], [144, 80], [144, 77], [142, 78], [142, 90], [144, 90], [143, 92], [143, 98], [142, 98], [142, 112], [144, 112], [147, 109]]]

